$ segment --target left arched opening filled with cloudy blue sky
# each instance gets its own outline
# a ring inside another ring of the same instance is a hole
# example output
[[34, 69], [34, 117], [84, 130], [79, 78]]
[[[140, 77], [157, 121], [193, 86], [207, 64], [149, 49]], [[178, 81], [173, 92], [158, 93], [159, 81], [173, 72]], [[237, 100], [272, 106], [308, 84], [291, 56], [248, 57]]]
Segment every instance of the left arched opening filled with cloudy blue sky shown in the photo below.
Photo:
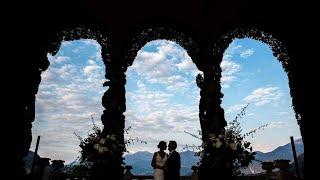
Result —
[[63, 41], [54, 56], [48, 53], [48, 60], [36, 95], [30, 150], [34, 151], [39, 135], [40, 157], [78, 163], [79, 140], [73, 133], [85, 137], [92, 130], [91, 116], [101, 127], [105, 92], [101, 46], [91, 39]]

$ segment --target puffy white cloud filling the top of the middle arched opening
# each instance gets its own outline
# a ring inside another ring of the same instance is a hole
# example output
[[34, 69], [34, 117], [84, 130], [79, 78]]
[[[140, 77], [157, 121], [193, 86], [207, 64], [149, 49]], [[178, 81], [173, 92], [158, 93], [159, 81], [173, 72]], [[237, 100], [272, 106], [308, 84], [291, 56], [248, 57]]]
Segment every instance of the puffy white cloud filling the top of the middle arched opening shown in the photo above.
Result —
[[145, 48], [155, 50], [140, 50], [128, 69], [128, 77], [136, 74], [147, 83], [165, 85], [170, 91], [190, 88], [192, 82], [188, 79], [195, 79], [199, 71], [183, 48], [164, 40], [152, 41]]

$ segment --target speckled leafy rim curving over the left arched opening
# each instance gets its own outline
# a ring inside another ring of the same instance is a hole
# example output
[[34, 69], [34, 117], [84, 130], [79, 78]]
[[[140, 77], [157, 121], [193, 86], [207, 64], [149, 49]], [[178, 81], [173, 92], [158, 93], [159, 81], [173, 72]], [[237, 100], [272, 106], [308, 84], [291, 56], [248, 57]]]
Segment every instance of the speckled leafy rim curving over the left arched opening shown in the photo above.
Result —
[[40, 58], [35, 62], [32, 69], [32, 76], [30, 77], [30, 86], [26, 90], [28, 98], [25, 99], [24, 107], [24, 135], [22, 138], [23, 148], [21, 148], [21, 157], [25, 156], [30, 148], [32, 141], [32, 122], [35, 119], [35, 101], [39, 85], [41, 83], [41, 73], [46, 71], [50, 65], [47, 58], [47, 53], [55, 55], [60, 49], [62, 41], [73, 41], [79, 39], [93, 39], [101, 46], [101, 55], [104, 64], [107, 66], [109, 62], [109, 54], [106, 49], [108, 47], [106, 35], [101, 33], [95, 27], [66, 27], [55, 30], [50, 34], [50, 38], [43, 42], [40, 47]]

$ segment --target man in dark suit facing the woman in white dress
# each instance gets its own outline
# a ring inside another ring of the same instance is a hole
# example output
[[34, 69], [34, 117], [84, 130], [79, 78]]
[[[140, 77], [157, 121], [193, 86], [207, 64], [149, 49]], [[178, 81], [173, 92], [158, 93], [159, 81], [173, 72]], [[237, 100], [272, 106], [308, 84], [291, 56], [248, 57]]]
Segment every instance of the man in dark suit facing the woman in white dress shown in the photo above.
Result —
[[169, 141], [168, 150], [170, 151], [166, 166], [167, 172], [165, 173], [166, 180], [179, 180], [180, 179], [180, 155], [176, 151], [177, 142]]

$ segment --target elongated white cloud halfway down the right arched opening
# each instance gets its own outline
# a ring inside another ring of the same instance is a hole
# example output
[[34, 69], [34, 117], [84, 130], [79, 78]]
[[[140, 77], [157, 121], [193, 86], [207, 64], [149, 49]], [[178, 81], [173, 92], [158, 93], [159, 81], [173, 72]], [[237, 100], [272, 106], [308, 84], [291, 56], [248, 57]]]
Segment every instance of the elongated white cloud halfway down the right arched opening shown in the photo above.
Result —
[[261, 87], [252, 91], [244, 101], [254, 103], [256, 106], [263, 106], [269, 103], [276, 103], [283, 96], [279, 87]]

